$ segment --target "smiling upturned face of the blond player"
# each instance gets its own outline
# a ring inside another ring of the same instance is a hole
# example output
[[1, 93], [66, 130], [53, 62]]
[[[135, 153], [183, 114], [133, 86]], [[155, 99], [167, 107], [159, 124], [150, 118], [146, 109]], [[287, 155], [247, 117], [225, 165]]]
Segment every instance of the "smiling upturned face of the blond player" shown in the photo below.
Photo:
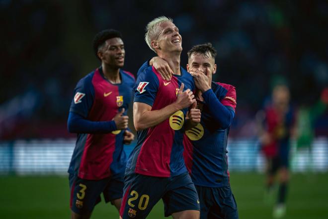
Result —
[[160, 25], [162, 31], [157, 39], [160, 50], [172, 52], [182, 51], [182, 37], [179, 29], [172, 22], [164, 22]]

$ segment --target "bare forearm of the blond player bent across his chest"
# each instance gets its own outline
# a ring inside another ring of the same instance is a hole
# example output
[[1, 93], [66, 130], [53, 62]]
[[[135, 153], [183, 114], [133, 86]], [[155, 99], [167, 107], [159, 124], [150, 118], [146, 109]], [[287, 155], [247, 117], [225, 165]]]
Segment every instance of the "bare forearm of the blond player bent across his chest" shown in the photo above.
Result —
[[133, 120], [137, 131], [153, 127], [163, 122], [174, 112], [180, 110], [176, 103], [170, 104], [162, 109], [146, 110], [143, 112], [140, 112], [136, 106], [136, 103], [134, 103]]

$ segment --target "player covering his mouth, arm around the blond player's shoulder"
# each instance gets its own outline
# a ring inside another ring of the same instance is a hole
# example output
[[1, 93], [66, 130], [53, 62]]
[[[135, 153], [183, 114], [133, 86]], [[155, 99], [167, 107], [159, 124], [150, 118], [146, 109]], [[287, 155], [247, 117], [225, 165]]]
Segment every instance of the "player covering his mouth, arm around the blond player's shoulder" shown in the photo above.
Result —
[[[194, 77], [197, 109], [201, 120], [184, 135], [184, 159], [200, 201], [201, 219], [238, 219], [227, 159], [228, 134], [236, 109], [236, 89], [212, 82], [216, 50], [211, 43], [196, 45], [188, 52], [187, 70]], [[170, 79], [171, 69], [160, 57], [151, 65]]]

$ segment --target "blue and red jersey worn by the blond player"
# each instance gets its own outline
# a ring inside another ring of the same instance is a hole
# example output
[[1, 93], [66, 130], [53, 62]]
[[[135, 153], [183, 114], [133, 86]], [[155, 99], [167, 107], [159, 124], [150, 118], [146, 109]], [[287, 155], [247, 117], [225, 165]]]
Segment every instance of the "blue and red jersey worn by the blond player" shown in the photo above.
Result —
[[[176, 101], [181, 83], [184, 90], [195, 90], [192, 76], [183, 68], [170, 81], [162, 79], [154, 67], [138, 73], [134, 102], [162, 109]], [[156, 126], [138, 131], [137, 145], [130, 154], [126, 173], [155, 177], [176, 176], [187, 171], [183, 160], [183, 133], [188, 109], [175, 112]]]

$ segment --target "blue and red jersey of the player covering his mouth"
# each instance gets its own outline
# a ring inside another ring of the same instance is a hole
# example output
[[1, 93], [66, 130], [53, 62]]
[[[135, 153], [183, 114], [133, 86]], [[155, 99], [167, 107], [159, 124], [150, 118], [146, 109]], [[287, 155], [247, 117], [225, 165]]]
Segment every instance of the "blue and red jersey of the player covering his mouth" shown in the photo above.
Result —
[[[212, 82], [212, 90], [217, 98], [215, 101], [219, 101], [234, 115], [235, 87]], [[185, 131], [183, 156], [195, 185], [223, 187], [229, 185], [227, 141], [230, 124], [229, 127], [222, 127], [211, 113], [211, 107], [211, 103], [197, 100], [197, 108], [201, 110], [201, 121], [197, 126]]]

